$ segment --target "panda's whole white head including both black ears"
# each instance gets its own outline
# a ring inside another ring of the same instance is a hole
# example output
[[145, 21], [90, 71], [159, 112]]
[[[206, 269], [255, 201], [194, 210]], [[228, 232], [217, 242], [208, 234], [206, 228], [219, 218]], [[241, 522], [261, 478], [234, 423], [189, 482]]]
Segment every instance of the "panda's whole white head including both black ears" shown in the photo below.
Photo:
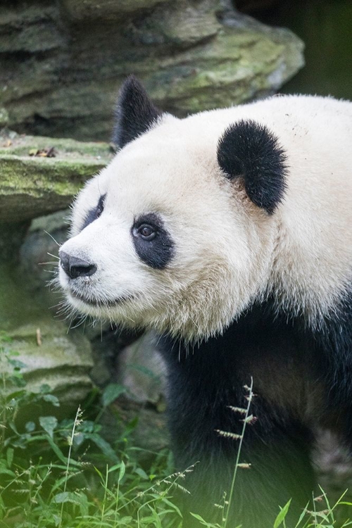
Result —
[[180, 120], [134, 77], [122, 87], [113, 161], [80, 192], [59, 279], [80, 313], [202, 339], [268, 286], [285, 155], [225, 111]]

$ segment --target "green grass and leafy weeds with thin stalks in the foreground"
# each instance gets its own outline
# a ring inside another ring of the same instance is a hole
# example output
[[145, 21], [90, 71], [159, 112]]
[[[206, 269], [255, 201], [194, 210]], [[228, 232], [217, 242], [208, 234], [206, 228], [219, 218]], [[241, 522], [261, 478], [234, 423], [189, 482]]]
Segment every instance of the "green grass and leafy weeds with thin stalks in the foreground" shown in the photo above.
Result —
[[[11, 340], [0, 334], [0, 528], [181, 528], [182, 515], [172, 497], [176, 490], [188, 493], [184, 477], [192, 467], [172, 472], [168, 450], [149, 453], [149, 465], [141, 465], [130, 442], [133, 423], [111, 446], [101, 436], [99, 413], [92, 417], [91, 408], [78, 408], [74, 417], [59, 421], [55, 415], [59, 402], [49, 386], [43, 385], [39, 394], [30, 393], [22, 368]], [[103, 405], [108, 406], [121, 390], [108, 386]], [[221, 505], [214, 505], [222, 509], [222, 522], [212, 524], [201, 512], [194, 512], [200, 527], [234, 528], [228, 515], [237, 472], [250, 470], [240, 462], [241, 441], [246, 425], [255, 420], [250, 414], [252, 385], [246, 390], [247, 407], [230, 408], [240, 415], [243, 427], [234, 438], [239, 450], [231, 489]], [[44, 412], [48, 406], [52, 411]], [[27, 420], [33, 408], [36, 417]], [[343, 497], [339, 503], [351, 508]], [[337, 527], [340, 505], [329, 505], [323, 491], [312, 504], [295, 525], [287, 524], [290, 503], [278, 508], [273, 528]], [[346, 528], [352, 522], [339, 526]]]

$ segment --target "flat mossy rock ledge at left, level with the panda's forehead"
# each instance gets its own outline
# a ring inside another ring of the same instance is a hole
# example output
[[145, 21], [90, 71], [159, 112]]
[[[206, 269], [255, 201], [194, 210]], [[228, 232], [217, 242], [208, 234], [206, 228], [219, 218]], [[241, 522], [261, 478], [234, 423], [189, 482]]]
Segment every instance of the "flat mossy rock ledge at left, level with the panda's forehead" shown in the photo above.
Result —
[[87, 178], [112, 156], [107, 144], [3, 132], [0, 223], [30, 220], [68, 207]]

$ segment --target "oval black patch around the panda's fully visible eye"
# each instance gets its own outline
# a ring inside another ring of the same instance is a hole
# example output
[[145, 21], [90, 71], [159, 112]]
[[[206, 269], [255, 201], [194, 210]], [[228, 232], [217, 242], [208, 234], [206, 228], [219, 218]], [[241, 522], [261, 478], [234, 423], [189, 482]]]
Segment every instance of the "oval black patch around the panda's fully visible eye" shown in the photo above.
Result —
[[131, 230], [139, 258], [155, 270], [163, 270], [174, 254], [174, 242], [164, 222], [155, 213], [146, 213], [134, 221]]

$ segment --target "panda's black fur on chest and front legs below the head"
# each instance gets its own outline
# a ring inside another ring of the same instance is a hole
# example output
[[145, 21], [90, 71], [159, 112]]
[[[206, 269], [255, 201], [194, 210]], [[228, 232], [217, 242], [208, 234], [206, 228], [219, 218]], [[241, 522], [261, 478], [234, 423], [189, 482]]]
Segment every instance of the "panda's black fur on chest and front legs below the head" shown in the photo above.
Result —
[[[319, 427], [341, 434], [341, 443], [351, 449], [352, 308], [347, 306], [319, 332], [309, 331], [301, 318], [277, 313], [266, 301], [199, 346], [163, 338], [177, 467], [184, 470], [199, 461], [183, 483], [191, 495], [180, 499], [187, 528], [199, 525], [189, 511], [208, 522], [221, 520], [214, 504], [222, 503], [224, 491], [228, 498], [238, 441], [219, 436], [216, 429], [241, 433], [243, 416], [228, 406], [246, 407], [244, 385], [251, 376], [256, 394], [251, 414], [258, 421], [247, 425], [240, 457], [251, 469], [237, 472], [228, 526], [272, 528], [279, 505], [290, 498], [287, 523], [296, 524], [315, 487], [310, 449]], [[270, 387], [274, 397], [268, 397]], [[314, 398], [318, 388], [318, 410], [307, 420], [305, 398]]]

